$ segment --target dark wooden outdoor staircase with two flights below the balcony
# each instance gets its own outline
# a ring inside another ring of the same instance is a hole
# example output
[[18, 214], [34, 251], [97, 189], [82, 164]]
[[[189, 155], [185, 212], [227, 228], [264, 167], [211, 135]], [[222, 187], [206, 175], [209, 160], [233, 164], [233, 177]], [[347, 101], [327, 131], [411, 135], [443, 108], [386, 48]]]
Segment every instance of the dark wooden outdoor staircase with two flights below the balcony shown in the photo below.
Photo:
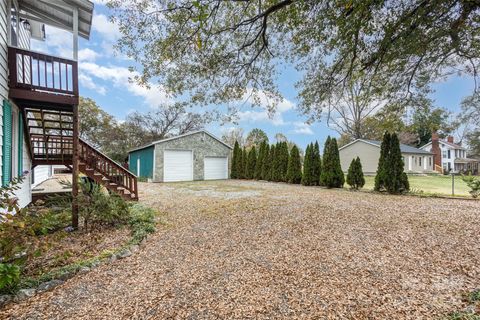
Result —
[[[24, 109], [32, 166], [73, 165], [73, 113], [68, 111]], [[138, 200], [137, 177], [79, 139], [78, 169], [81, 173], [126, 200]]]

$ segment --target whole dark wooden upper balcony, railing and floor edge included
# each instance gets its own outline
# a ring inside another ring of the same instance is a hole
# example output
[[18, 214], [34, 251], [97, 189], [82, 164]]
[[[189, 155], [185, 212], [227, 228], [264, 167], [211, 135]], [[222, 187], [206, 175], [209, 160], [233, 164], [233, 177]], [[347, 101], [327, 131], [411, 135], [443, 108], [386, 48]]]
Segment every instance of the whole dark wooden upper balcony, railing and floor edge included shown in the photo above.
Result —
[[21, 107], [71, 110], [78, 104], [78, 64], [43, 53], [8, 48], [9, 97]]

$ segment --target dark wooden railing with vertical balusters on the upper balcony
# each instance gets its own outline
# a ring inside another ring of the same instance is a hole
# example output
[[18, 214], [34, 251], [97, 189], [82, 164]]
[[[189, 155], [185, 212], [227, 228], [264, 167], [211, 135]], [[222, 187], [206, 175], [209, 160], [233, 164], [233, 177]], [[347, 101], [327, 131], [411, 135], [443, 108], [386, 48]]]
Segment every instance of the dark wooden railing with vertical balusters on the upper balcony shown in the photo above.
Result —
[[10, 88], [78, 96], [77, 61], [8, 47]]

